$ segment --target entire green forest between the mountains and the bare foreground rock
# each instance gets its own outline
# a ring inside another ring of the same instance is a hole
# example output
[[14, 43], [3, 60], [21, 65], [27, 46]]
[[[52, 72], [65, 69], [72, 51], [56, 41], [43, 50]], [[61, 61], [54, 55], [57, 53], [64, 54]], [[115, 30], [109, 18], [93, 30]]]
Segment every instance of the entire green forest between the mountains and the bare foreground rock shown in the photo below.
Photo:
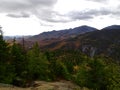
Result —
[[26, 50], [0, 35], [0, 83], [29, 87], [35, 80], [70, 80], [92, 90], [119, 90], [120, 65], [104, 55], [89, 57], [79, 50]]

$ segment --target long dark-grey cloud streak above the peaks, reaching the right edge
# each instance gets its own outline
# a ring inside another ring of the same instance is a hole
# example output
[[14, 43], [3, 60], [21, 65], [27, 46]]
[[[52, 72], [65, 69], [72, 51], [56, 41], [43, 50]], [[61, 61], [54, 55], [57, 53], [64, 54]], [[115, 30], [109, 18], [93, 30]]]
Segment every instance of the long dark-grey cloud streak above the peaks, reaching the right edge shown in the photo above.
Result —
[[91, 9], [91, 10], [85, 10], [85, 11], [71, 11], [67, 14], [69, 18], [71, 18], [72, 21], [75, 20], [88, 20], [93, 19], [97, 16], [120, 16], [119, 9], [107, 9], [107, 8], [100, 8], [100, 9]]

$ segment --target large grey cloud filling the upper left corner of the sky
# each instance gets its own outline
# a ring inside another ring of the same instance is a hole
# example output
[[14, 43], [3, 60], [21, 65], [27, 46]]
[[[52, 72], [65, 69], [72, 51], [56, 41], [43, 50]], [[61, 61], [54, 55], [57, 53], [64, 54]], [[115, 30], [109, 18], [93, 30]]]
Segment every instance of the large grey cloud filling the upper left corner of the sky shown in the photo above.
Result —
[[41, 20], [53, 16], [53, 6], [57, 0], [0, 0], [0, 13], [13, 18], [27, 18], [35, 15]]

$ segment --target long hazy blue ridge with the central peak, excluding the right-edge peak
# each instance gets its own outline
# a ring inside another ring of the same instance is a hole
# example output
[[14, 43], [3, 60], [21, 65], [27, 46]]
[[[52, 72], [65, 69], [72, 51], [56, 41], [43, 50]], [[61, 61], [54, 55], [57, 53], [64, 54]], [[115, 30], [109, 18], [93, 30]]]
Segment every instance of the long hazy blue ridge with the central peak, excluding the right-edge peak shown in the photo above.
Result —
[[86, 32], [96, 31], [96, 28], [90, 26], [80, 26], [73, 29], [65, 29], [60, 31], [50, 31], [43, 32], [39, 35], [35, 35], [30, 38], [30, 40], [46, 40], [46, 39], [66, 39], [70, 37], [75, 37], [79, 34], [84, 34]]

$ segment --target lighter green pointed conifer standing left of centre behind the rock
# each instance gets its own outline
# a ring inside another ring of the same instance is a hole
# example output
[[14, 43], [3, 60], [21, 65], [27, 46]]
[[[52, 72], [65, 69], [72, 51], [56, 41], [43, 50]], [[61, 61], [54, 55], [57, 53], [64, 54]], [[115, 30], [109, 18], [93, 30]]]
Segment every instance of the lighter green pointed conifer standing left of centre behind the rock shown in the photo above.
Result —
[[49, 73], [48, 60], [46, 56], [40, 52], [39, 46], [36, 43], [32, 50], [27, 53], [28, 58], [28, 75], [30, 79], [47, 80]]

